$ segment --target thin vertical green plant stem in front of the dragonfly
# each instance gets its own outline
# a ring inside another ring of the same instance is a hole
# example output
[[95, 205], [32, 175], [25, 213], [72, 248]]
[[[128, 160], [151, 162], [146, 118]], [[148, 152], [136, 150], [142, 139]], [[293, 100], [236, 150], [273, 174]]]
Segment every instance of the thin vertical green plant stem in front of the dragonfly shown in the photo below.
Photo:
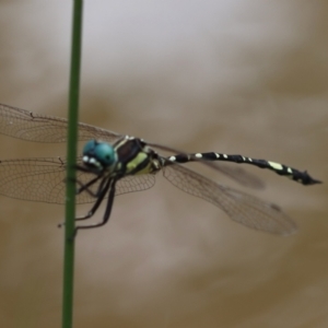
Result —
[[75, 159], [79, 121], [79, 91], [81, 67], [83, 0], [73, 1], [72, 48], [69, 84], [69, 126], [67, 147], [67, 202], [65, 221], [65, 260], [62, 293], [62, 328], [71, 328], [73, 321], [74, 277], [74, 218], [75, 218]]

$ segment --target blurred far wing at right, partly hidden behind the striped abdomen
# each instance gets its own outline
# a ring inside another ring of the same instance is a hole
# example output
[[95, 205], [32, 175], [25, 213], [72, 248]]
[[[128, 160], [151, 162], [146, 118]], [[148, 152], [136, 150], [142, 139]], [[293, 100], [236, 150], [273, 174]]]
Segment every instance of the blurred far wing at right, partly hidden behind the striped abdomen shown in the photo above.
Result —
[[[156, 148], [161, 151], [164, 152], [169, 152], [171, 155], [176, 155], [176, 154], [185, 154], [186, 152], [176, 150], [171, 147], [162, 145], [162, 144], [156, 144], [156, 143], [148, 143], [149, 145]], [[215, 163], [215, 162], [208, 162], [208, 161], [199, 161], [197, 163], [201, 163], [212, 169], [219, 171], [220, 173], [223, 173], [224, 175], [229, 176], [236, 183], [238, 183], [242, 186], [248, 187], [248, 188], [254, 188], [254, 189], [263, 189], [265, 184], [259, 179], [257, 176], [246, 172], [242, 167], [237, 166], [227, 166], [222, 163]]]

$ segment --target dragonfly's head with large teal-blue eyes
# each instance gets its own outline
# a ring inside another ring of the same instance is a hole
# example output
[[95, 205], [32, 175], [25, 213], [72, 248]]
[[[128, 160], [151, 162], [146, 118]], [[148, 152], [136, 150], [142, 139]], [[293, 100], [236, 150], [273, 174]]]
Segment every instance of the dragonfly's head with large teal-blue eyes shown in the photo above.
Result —
[[98, 141], [90, 140], [83, 148], [83, 163], [87, 167], [105, 169], [117, 162], [117, 153], [113, 145]]

